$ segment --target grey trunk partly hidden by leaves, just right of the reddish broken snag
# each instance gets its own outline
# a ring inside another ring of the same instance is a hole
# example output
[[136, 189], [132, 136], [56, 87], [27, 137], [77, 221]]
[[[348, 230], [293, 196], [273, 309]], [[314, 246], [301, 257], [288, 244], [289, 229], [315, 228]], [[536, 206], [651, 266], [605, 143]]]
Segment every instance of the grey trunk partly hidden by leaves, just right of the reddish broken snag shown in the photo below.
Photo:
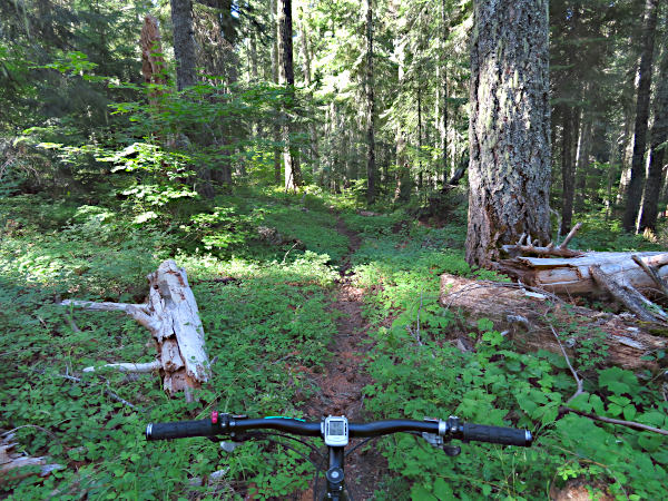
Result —
[[[195, 85], [195, 39], [193, 38], [193, 3], [190, 0], [171, 0], [174, 57], [176, 59], [176, 87], [179, 91]], [[183, 141], [177, 141], [183, 143]], [[196, 168], [198, 191], [214, 198], [212, 171], [207, 166]]]

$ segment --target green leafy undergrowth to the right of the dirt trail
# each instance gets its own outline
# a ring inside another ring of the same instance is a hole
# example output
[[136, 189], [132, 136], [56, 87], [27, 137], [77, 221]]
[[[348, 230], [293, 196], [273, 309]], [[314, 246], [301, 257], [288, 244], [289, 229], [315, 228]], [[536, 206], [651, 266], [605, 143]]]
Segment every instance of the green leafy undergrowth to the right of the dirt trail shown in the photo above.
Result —
[[[550, 487], [562, 487], [571, 478], [603, 480], [620, 501], [662, 499], [668, 487], [662, 435], [560, 414], [576, 391], [562, 356], [520, 354], [491, 322], [464, 328], [439, 304], [442, 273], [499, 278], [465, 264], [456, 248], [460, 228], [413, 224], [397, 232], [390, 225], [367, 225], [363, 234], [353, 261], [355, 279], [367, 291], [364, 313], [377, 326], [366, 365], [375, 382], [364, 390], [373, 416], [453, 414], [480, 424], [527, 428], [537, 438], [530, 449], [458, 443], [462, 454], [450, 458], [414, 436], [389, 436], [380, 449], [394, 475], [385, 479], [375, 499], [547, 499]], [[449, 240], [455, 248], [444, 248]], [[576, 324], [556, 328], [563, 341], [580, 334]], [[455, 347], [454, 332], [477, 351]], [[574, 366], [589, 375], [586, 393], [571, 407], [667, 428], [661, 375], [597, 369], [606, 355], [596, 336], [579, 343], [577, 355]], [[649, 356], [662, 360], [665, 353]]]

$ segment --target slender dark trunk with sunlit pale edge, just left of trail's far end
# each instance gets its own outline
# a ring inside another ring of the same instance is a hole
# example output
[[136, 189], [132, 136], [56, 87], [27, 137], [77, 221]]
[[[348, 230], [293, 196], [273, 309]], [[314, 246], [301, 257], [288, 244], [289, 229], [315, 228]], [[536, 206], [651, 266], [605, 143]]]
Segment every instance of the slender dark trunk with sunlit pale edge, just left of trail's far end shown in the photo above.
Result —
[[292, 0], [277, 0], [278, 10], [278, 79], [287, 89], [287, 102], [284, 107], [283, 125], [281, 127], [283, 143], [283, 163], [285, 165], [285, 189], [302, 186], [302, 169], [299, 168], [298, 153], [291, 144], [289, 132], [294, 128], [289, 112], [294, 106], [295, 71], [293, 63], [293, 24]]

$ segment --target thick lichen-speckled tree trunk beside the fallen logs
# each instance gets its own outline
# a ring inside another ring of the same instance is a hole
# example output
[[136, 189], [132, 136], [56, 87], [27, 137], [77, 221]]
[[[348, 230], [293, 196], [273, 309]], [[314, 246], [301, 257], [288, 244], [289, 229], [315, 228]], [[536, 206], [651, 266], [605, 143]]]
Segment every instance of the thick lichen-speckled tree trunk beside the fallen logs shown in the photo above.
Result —
[[548, 2], [474, 0], [466, 262], [550, 240]]

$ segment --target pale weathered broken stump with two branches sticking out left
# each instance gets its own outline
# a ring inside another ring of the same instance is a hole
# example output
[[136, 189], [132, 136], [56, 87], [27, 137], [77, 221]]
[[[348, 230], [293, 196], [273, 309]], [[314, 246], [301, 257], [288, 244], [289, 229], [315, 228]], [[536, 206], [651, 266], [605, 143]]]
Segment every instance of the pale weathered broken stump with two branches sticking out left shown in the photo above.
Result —
[[[148, 363], [116, 363], [105, 366], [122, 372], [159, 371], [169, 395], [185, 392], [193, 401], [193, 390], [200, 389], [209, 377], [209, 360], [205, 348], [204, 328], [185, 268], [174, 259], [164, 262], [147, 276], [148, 304], [90, 303], [66, 299], [62, 306], [82, 306], [94, 312], [125, 312], [151, 334], [158, 358]], [[86, 367], [84, 372], [92, 372]]]

